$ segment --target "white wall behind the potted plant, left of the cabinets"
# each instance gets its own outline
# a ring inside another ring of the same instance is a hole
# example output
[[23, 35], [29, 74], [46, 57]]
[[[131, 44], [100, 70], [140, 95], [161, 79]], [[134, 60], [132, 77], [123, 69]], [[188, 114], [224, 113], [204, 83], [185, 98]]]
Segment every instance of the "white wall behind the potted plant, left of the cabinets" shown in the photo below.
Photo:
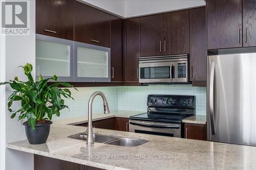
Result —
[[[18, 76], [20, 80], [27, 80], [24, 75], [23, 68], [19, 65], [25, 65], [27, 62], [31, 63], [35, 70], [35, 0], [30, 1], [30, 35], [29, 36], [6, 36], [6, 57], [5, 57], [5, 79], [13, 80]], [[2, 61], [2, 60], [1, 60]], [[4, 63], [1, 62], [1, 69]], [[33, 71], [35, 77], [35, 71]], [[17, 122], [17, 117], [10, 118], [10, 112], [7, 110], [7, 98], [12, 93], [12, 89], [6, 85], [6, 98], [5, 98], [5, 133], [6, 143], [26, 139], [25, 129], [21, 122]], [[1, 99], [2, 93], [1, 93]], [[2, 102], [2, 101], [1, 101]], [[19, 103], [13, 104], [12, 110], [20, 108]], [[0, 108], [3, 112], [4, 108]], [[1, 116], [3, 115], [1, 114]], [[1, 120], [2, 121], [2, 120]], [[1, 129], [2, 129], [1, 125]], [[2, 134], [1, 134], [2, 135]], [[1, 136], [2, 138], [2, 136]], [[3, 148], [1, 148], [3, 149]], [[1, 150], [2, 153], [2, 150]], [[5, 167], [7, 170], [20, 169], [32, 170], [34, 165], [33, 154], [14, 151], [6, 149]], [[1, 165], [2, 166], [2, 165]], [[2, 169], [2, 168], [1, 168]]]

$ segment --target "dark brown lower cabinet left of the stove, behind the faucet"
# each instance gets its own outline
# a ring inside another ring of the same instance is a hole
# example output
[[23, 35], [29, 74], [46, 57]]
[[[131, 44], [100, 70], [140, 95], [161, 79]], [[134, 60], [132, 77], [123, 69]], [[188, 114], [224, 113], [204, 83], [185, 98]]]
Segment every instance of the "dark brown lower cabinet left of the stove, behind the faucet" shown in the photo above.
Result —
[[[83, 123], [77, 126], [87, 127], [87, 125], [88, 125], [87, 123]], [[111, 118], [96, 120], [96, 121], [93, 121], [93, 127], [100, 128], [100, 129], [129, 132], [129, 118], [111, 117]]]

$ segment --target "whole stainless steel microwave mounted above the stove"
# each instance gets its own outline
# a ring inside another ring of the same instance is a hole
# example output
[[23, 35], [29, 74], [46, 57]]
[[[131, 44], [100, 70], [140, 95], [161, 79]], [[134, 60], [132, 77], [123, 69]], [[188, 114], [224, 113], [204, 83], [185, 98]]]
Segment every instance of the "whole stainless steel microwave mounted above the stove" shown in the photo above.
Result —
[[140, 83], [187, 83], [188, 55], [140, 57]]

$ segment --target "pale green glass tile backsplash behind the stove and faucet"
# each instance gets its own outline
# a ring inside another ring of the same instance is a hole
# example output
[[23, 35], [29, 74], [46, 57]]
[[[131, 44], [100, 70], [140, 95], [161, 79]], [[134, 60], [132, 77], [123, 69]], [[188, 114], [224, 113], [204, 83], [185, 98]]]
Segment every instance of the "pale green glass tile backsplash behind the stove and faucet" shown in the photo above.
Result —
[[[196, 96], [196, 114], [206, 115], [206, 87], [184, 85], [149, 85], [119, 87], [80, 87], [78, 91], [71, 89], [75, 100], [66, 99], [65, 104], [70, 110], [61, 110], [60, 118], [87, 116], [88, 101], [95, 91], [102, 91], [108, 100], [110, 110], [146, 111], [148, 94], [179, 94]], [[103, 113], [100, 96], [93, 102], [93, 113]], [[53, 119], [56, 119], [54, 117]]]

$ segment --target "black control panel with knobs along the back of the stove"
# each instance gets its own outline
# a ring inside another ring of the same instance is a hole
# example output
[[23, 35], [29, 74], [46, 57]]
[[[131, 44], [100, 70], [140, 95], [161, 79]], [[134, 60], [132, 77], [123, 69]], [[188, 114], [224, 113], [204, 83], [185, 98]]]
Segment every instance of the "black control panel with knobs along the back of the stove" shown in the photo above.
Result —
[[147, 106], [156, 107], [195, 107], [193, 95], [148, 95]]

